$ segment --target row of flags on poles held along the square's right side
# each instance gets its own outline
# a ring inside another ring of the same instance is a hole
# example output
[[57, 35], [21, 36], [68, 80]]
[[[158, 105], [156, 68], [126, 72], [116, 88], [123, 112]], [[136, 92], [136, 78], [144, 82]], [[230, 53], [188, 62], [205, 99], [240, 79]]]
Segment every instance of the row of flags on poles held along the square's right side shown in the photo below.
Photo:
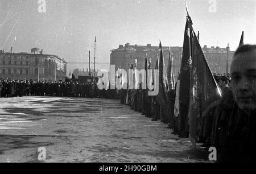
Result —
[[[159, 93], [155, 96], [156, 102], [166, 114], [174, 115], [179, 120], [179, 131], [188, 131], [189, 139], [193, 144], [193, 149], [196, 148], [196, 142], [200, 131], [200, 119], [201, 114], [207, 109], [209, 103], [220, 100], [221, 90], [214, 80], [213, 73], [210, 70], [207, 59], [201, 49], [199, 38], [193, 30], [192, 19], [187, 15], [187, 22], [185, 24], [184, 31], [184, 43], [183, 43], [183, 55], [180, 64], [180, 71], [175, 82], [173, 71], [173, 57], [171, 50], [169, 49], [168, 66], [166, 69], [162, 43], [159, 44], [160, 57], [156, 56], [155, 69], [159, 70], [158, 85]], [[242, 32], [240, 45], [243, 45]], [[137, 70], [137, 60], [135, 65], [131, 65], [130, 69]], [[151, 62], [148, 61], [147, 55], [145, 55], [144, 69], [146, 71], [146, 84], [148, 80], [154, 82], [154, 79], [147, 78], [148, 70], [151, 69]], [[138, 73], [135, 71], [135, 73]], [[150, 72], [151, 73], [151, 72]], [[126, 78], [126, 77], [125, 77]], [[135, 74], [135, 78], [137, 74]], [[138, 79], [136, 79], [138, 82]], [[168, 92], [175, 91], [176, 98], [175, 103], [170, 102]], [[146, 96], [148, 96], [148, 90], [146, 89]], [[128, 103], [128, 93], [126, 97], [126, 103]], [[168, 113], [168, 107], [174, 105], [174, 113]]]

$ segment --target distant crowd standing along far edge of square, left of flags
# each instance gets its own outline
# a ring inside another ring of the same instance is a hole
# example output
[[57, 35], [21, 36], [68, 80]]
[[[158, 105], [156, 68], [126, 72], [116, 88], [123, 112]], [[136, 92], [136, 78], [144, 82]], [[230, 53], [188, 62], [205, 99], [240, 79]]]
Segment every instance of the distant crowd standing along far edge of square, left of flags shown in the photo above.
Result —
[[98, 90], [94, 82], [0, 79], [0, 97], [53, 96], [117, 98], [115, 90]]

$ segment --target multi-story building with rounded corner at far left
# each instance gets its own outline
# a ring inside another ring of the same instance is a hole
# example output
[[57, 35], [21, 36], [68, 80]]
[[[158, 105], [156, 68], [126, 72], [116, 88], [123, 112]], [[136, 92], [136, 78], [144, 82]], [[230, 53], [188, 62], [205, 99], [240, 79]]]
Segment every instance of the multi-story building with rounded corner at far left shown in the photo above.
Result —
[[67, 63], [55, 55], [44, 55], [43, 49], [31, 53], [0, 51], [0, 78], [55, 81], [67, 76]]

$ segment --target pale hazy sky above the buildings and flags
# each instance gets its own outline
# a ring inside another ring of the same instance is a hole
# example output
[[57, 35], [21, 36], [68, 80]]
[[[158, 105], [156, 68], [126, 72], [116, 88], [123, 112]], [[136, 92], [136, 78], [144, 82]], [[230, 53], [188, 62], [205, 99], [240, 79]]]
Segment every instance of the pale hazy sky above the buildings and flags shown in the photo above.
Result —
[[[182, 46], [185, 5], [180, 0], [51, 0], [39, 13], [38, 0], [0, 0], [0, 49], [30, 52], [33, 47], [59, 55], [68, 62], [109, 63], [110, 50], [119, 44]], [[187, 1], [200, 44], [237, 48], [241, 32], [245, 43], [256, 43], [256, 0]], [[216, 6], [215, 6], [216, 5]], [[215, 8], [216, 7], [216, 8]], [[97, 65], [102, 68], [103, 65]], [[74, 68], [88, 65], [69, 64]], [[106, 65], [105, 65], [106, 67]]]

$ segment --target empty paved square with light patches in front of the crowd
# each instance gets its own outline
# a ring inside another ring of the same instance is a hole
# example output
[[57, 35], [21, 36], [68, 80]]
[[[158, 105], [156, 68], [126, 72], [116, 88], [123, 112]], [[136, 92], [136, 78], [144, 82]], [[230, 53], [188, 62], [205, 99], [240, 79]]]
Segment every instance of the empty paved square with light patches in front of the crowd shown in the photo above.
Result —
[[0, 98], [0, 162], [205, 162], [162, 122], [118, 100]]

